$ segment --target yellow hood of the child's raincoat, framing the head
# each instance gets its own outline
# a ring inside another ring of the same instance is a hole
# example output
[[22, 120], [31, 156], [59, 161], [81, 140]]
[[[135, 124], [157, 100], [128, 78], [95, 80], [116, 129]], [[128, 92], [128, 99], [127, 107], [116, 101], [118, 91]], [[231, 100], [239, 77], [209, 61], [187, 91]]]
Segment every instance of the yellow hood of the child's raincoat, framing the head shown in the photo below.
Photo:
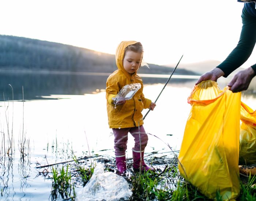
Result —
[[[128, 75], [129, 77], [130, 77], [131, 75], [129, 75], [129, 73], [128, 73], [127, 71], [125, 71], [124, 65], [123, 65], [124, 50], [125, 50], [125, 48], [126, 48], [127, 46], [133, 45], [133, 44], [135, 44], [135, 43], [137, 43], [137, 41], [122, 41], [122, 42], [118, 45], [118, 47], [117, 47], [117, 49], [116, 49], [116, 65], [117, 65], [117, 68], [118, 68], [120, 71], [124, 72], [125, 75]], [[135, 73], [136, 73], [136, 72], [135, 72]]]

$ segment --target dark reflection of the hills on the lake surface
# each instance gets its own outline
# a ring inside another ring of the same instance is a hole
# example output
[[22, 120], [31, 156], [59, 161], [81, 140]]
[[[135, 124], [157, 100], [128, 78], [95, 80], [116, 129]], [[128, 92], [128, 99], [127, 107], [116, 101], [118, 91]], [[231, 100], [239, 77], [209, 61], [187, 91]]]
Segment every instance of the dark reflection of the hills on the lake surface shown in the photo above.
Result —
[[[151, 75], [143, 77], [144, 84], [165, 83], [169, 75]], [[14, 100], [22, 100], [22, 86], [24, 99], [47, 99], [47, 96], [56, 95], [83, 95], [105, 89], [108, 74], [45, 74], [45, 73], [1, 73], [0, 74], [0, 101], [12, 100], [12, 88]], [[174, 83], [184, 83], [190, 79], [172, 79]], [[11, 84], [11, 86], [9, 85]], [[44, 97], [44, 98], [42, 98]], [[49, 97], [48, 97], [49, 98]]]

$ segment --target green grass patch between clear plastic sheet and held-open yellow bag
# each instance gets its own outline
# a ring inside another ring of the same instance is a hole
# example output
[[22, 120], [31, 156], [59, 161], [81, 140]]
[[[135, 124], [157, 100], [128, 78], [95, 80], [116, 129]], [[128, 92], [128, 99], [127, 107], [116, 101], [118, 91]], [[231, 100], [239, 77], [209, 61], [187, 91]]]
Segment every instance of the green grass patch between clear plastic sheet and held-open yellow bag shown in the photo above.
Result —
[[177, 166], [131, 177], [133, 198], [139, 200], [208, 200], [178, 174]]

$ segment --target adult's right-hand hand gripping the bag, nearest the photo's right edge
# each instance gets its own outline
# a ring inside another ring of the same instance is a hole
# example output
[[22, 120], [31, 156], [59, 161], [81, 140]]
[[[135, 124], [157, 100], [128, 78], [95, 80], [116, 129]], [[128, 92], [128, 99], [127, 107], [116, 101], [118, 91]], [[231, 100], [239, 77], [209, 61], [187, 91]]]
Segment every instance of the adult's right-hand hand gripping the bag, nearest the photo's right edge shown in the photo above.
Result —
[[230, 87], [229, 90], [233, 93], [247, 90], [254, 76], [255, 72], [252, 67], [246, 68], [245, 70], [237, 72], [227, 86]]

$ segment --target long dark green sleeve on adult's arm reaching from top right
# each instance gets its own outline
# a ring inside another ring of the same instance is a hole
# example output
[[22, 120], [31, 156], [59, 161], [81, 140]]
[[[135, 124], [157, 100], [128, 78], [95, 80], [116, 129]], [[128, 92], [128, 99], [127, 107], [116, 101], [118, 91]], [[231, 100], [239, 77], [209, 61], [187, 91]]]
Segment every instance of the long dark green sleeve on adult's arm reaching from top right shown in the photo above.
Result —
[[[231, 72], [240, 67], [252, 54], [252, 50], [256, 43], [256, 18], [249, 15], [245, 7], [242, 10], [242, 30], [239, 42], [236, 48], [221, 64], [217, 66], [225, 75], [229, 76]], [[252, 66], [256, 72], [256, 64]]]

